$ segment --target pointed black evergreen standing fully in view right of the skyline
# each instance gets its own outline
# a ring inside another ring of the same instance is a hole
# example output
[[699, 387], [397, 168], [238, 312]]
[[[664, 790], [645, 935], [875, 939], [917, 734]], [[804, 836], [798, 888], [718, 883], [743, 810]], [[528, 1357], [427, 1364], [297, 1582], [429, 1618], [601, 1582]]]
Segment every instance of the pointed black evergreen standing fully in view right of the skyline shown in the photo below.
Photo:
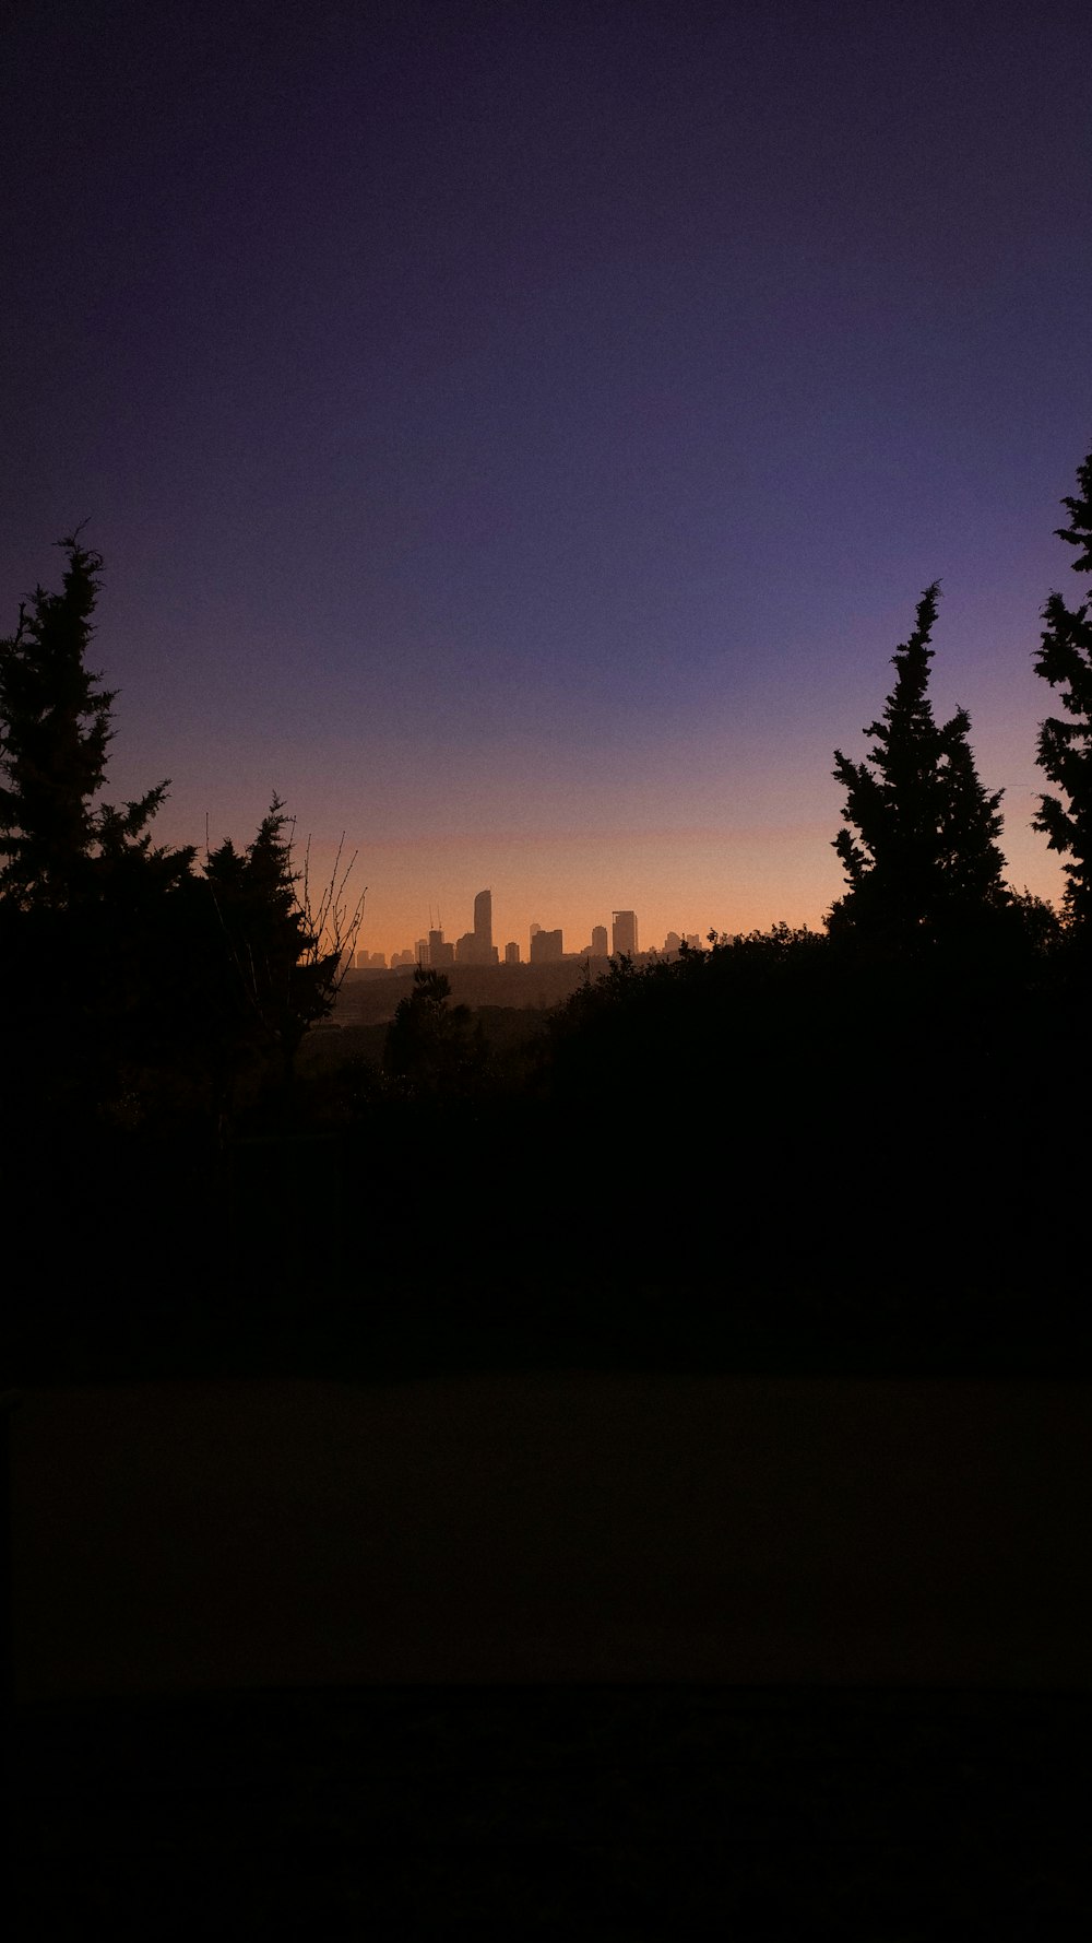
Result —
[[917, 626], [892, 661], [896, 686], [882, 721], [865, 729], [876, 748], [865, 762], [836, 750], [847, 793], [845, 830], [834, 839], [849, 890], [828, 917], [832, 935], [855, 933], [907, 950], [966, 931], [1003, 909], [1001, 791], [987, 793], [958, 709], [937, 727], [929, 699], [931, 635], [938, 583], [917, 602]]

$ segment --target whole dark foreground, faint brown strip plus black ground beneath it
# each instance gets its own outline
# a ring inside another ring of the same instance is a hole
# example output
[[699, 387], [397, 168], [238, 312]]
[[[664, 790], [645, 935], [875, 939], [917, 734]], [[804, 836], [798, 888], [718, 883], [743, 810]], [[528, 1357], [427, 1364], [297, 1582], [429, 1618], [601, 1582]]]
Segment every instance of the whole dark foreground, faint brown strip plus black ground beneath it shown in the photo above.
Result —
[[1086, 1937], [1084, 1383], [27, 1391], [27, 1939]]

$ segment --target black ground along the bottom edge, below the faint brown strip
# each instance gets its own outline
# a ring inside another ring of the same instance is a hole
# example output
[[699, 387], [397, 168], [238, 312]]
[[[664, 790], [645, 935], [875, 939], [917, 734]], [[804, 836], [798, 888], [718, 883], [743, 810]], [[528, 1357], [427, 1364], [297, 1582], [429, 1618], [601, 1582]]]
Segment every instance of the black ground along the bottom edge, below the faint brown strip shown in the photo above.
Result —
[[1092, 1696], [356, 1687], [19, 1710], [23, 1937], [1078, 1937]]

